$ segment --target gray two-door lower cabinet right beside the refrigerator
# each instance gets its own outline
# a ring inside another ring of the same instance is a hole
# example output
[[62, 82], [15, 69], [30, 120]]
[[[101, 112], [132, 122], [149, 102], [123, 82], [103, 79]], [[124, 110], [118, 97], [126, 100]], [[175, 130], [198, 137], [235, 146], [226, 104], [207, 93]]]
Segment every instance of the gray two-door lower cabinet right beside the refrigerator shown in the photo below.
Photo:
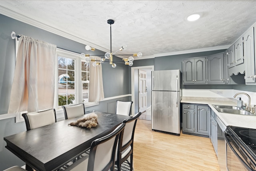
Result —
[[210, 135], [210, 107], [199, 104], [183, 104], [182, 132]]

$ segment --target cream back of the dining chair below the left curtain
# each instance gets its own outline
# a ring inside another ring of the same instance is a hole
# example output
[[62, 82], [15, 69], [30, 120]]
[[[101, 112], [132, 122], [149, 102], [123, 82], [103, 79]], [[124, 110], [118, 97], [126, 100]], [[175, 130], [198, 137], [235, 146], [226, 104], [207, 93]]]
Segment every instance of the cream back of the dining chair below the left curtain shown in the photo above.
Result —
[[27, 131], [56, 122], [55, 109], [23, 113], [22, 116], [25, 119]]

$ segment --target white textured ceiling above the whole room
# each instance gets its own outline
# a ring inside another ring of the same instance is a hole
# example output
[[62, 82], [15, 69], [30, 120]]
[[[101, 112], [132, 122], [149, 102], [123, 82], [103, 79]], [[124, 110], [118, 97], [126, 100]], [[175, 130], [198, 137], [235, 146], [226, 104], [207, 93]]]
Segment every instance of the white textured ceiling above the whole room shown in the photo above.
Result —
[[[119, 54], [148, 57], [230, 45], [256, 22], [255, 0], [1, 0], [0, 6], [100, 50], [110, 50], [112, 19], [112, 51], [126, 44]], [[193, 13], [201, 18], [188, 22]]]

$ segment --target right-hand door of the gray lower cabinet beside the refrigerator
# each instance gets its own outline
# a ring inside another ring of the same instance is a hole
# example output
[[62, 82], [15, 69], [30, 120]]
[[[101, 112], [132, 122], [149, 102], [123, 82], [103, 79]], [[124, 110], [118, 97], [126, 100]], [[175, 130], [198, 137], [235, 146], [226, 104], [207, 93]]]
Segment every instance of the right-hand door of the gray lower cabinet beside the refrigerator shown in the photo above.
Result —
[[210, 109], [207, 106], [197, 106], [197, 132], [210, 134]]

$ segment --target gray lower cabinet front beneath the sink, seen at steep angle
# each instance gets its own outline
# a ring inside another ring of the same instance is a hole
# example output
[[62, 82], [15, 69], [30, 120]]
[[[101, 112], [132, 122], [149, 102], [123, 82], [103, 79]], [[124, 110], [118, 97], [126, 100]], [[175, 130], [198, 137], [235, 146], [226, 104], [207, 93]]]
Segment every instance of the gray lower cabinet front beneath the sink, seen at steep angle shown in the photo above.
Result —
[[218, 132], [217, 132], [217, 122], [216, 122], [216, 114], [211, 112], [211, 135], [210, 135], [212, 145], [214, 147], [214, 151], [216, 155], [218, 154]]

